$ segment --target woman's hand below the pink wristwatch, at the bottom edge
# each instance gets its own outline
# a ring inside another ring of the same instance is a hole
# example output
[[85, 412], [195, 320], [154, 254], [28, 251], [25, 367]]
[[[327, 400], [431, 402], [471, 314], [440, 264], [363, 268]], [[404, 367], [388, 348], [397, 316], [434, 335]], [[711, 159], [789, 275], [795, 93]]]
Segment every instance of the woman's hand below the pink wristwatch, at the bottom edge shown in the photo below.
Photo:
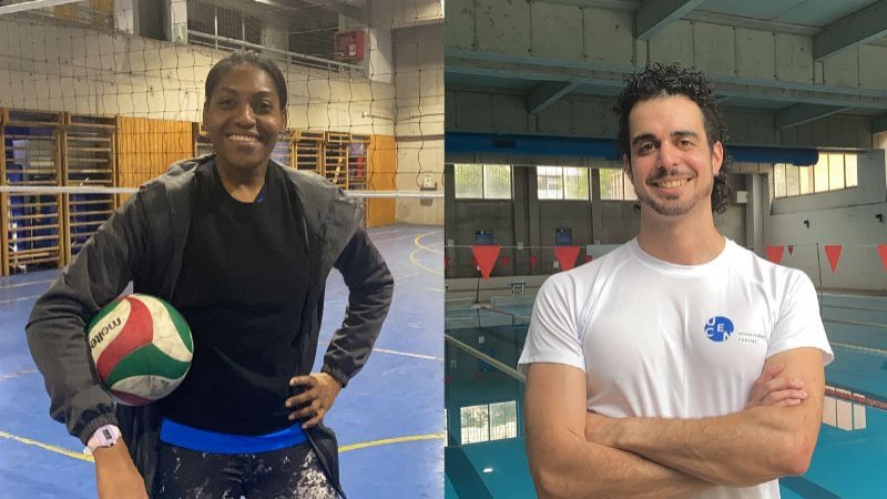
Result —
[[112, 447], [95, 449], [93, 457], [99, 499], [147, 499], [145, 481], [122, 438]]

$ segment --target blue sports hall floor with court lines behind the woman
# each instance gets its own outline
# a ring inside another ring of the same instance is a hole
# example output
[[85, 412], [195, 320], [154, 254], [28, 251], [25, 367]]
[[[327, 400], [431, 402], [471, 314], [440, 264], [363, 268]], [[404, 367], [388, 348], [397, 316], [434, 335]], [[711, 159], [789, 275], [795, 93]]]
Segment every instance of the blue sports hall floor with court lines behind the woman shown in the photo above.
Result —
[[[394, 303], [373, 356], [326, 424], [338, 436], [349, 498], [441, 498], [442, 228], [395, 225], [369, 233], [395, 276]], [[94, 467], [79, 440], [50, 419], [24, 338], [34, 299], [58, 274], [0, 277], [0, 499], [96, 497]], [[346, 303], [347, 288], [334, 272], [316, 369]]]

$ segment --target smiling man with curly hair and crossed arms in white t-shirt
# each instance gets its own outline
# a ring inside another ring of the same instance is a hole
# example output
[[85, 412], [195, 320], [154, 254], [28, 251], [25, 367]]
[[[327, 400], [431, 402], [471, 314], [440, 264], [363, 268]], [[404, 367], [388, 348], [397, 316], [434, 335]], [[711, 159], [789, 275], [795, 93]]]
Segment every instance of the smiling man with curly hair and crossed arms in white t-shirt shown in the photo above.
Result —
[[641, 230], [537, 297], [539, 496], [777, 498], [809, 465], [833, 358], [813, 283], [717, 232], [726, 125], [702, 73], [652, 65], [615, 111]]

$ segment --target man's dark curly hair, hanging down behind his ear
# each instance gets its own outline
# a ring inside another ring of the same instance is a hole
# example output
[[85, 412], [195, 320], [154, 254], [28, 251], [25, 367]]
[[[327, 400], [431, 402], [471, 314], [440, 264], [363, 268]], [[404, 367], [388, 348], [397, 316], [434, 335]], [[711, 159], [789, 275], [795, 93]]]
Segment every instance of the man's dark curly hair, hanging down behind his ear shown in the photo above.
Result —
[[[613, 105], [613, 112], [619, 114], [619, 136], [616, 139], [623, 154], [631, 157], [629, 113], [634, 105], [641, 101], [667, 95], [684, 95], [695, 102], [702, 110], [708, 146], [713, 147], [715, 142], [724, 143], [727, 139], [727, 124], [717, 106], [708, 78], [700, 71], [684, 69], [677, 63], [670, 65], [654, 63], [625, 80], [625, 88]], [[712, 189], [712, 210], [717, 213], [724, 213], [730, 197], [728, 166], [730, 157], [724, 153], [724, 162], [714, 179]]]

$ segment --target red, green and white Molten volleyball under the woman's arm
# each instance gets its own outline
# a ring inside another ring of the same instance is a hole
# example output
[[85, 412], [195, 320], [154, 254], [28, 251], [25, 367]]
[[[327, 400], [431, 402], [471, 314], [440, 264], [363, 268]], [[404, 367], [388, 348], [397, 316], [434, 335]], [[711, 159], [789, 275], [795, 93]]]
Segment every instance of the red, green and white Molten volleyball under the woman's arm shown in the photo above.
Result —
[[141, 406], [170, 395], [191, 367], [187, 323], [153, 296], [129, 295], [108, 305], [86, 335], [99, 377], [122, 404]]

